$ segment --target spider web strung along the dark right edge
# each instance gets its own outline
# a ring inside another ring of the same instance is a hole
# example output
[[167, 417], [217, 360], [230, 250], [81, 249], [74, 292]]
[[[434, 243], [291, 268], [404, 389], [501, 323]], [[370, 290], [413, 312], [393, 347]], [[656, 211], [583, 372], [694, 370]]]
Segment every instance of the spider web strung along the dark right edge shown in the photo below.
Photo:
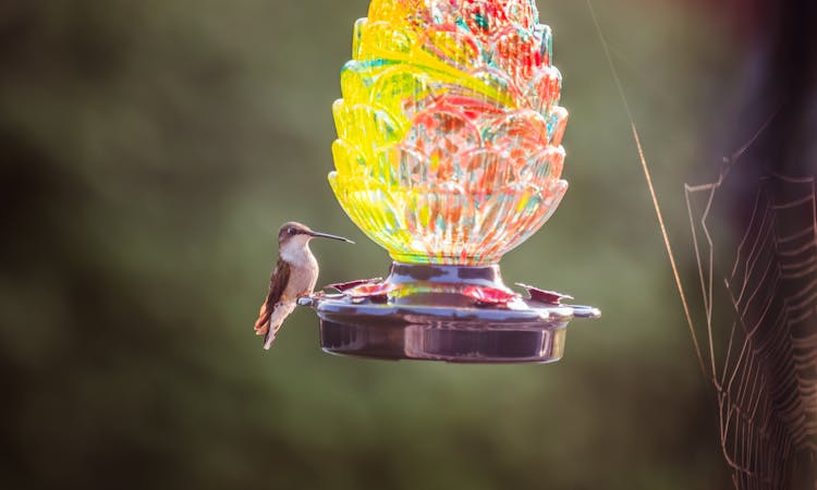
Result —
[[[717, 394], [720, 445], [734, 487], [789, 488], [792, 474], [803, 470], [793, 466], [813, 467], [817, 454], [815, 179], [760, 176], [740, 243], [721, 254], [710, 219], [728, 207], [724, 187], [735, 166], [717, 182], [684, 188], [706, 352], [691, 331]], [[702, 211], [694, 200], [703, 200]]]

